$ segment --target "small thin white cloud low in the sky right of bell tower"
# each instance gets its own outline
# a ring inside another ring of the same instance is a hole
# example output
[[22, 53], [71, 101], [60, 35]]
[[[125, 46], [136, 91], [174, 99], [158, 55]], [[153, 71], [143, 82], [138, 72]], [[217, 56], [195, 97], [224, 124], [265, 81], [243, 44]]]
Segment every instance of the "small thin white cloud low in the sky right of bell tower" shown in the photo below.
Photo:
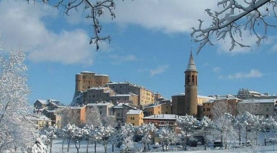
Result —
[[258, 69], [251, 69], [250, 72], [238, 72], [235, 74], [229, 74], [227, 76], [219, 76], [219, 78], [226, 78], [226, 79], [243, 79], [243, 78], [259, 78], [262, 77], [264, 74], [261, 73]]

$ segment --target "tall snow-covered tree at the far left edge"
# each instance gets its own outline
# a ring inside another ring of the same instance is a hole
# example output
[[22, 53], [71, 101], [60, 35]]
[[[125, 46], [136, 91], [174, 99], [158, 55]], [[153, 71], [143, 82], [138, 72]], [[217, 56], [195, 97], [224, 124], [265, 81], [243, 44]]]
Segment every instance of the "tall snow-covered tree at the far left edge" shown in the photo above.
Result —
[[0, 150], [33, 146], [37, 131], [30, 112], [27, 66], [22, 46], [0, 52]]

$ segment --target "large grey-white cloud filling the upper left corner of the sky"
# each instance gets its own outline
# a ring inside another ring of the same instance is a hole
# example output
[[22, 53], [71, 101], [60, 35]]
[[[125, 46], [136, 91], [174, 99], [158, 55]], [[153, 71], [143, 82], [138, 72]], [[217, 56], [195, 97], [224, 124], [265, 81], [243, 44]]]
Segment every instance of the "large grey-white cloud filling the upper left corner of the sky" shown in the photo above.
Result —
[[[0, 31], [4, 47], [22, 44], [27, 58], [35, 62], [51, 61], [63, 64], [93, 62], [95, 47], [81, 29], [56, 33], [46, 27], [45, 17], [57, 17], [58, 10], [41, 3], [0, 1]], [[62, 28], [62, 27], [61, 27]], [[104, 43], [105, 45], [105, 43]]]

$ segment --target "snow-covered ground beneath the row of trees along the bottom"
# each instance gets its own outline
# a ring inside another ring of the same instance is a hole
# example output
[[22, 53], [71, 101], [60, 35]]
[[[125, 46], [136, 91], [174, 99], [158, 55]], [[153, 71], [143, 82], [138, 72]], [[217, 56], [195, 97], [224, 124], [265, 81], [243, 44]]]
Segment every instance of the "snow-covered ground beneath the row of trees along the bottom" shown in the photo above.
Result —
[[[276, 138], [276, 133], [275, 132], [267, 132], [267, 139], [269, 138]], [[261, 144], [263, 144], [264, 141], [264, 133], [261, 132], [259, 134], [259, 142]], [[242, 138], [242, 142], [244, 142], [244, 139]], [[86, 153], [86, 145], [87, 145], [87, 141], [82, 141], [81, 145], [80, 145], [80, 149], [79, 149], [79, 153]], [[153, 148], [153, 146], [156, 146], [158, 148]], [[141, 150], [143, 146], [141, 144], [136, 143], [135, 147], [132, 149], [132, 152], [138, 152], [136, 150]], [[215, 148], [213, 148], [212, 146], [209, 147], [209, 149], [211, 150], [203, 150], [204, 146], [203, 145], [198, 145], [198, 147], [187, 147], [188, 150], [191, 151], [182, 151], [180, 148], [175, 147], [175, 146], [170, 146], [169, 150], [170, 152], [188, 152], [188, 153], [196, 153], [196, 152], [205, 152], [205, 153], [220, 153], [220, 152], [224, 152], [224, 153], [229, 153], [229, 152], [247, 152], [245, 150], [245, 148], [235, 148], [233, 149], [226, 149], [226, 150], [216, 150]], [[162, 148], [160, 145], [150, 145], [150, 151], [149, 152], [162, 152]], [[175, 151], [176, 149], [176, 151]], [[250, 147], [247, 148], [248, 151], [250, 151]], [[89, 144], [89, 153], [94, 153], [94, 143], [90, 143]], [[274, 150], [274, 151], [273, 151]], [[64, 151], [66, 153], [67, 151], [67, 141], [64, 142]], [[121, 152], [122, 148], [117, 148], [114, 146], [114, 152]], [[53, 141], [53, 149], [52, 149], [53, 153], [62, 153], [62, 139], [55, 139]], [[71, 142], [70, 144], [70, 149], [69, 149], [70, 153], [77, 153], [77, 150], [75, 148], [75, 144], [73, 142]], [[97, 144], [97, 148], [96, 148], [96, 152], [105, 152], [104, 150], [104, 146], [102, 144]], [[112, 152], [112, 146], [109, 144], [108, 145], [108, 149], [107, 152]], [[266, 152], [266, 153], [273, 153], [276, 152], [277, 153], [277, 144], [275, 144], [275, 146], [270, 145], [270, 146], [260, 146], [259, 147], [259, 152]]]

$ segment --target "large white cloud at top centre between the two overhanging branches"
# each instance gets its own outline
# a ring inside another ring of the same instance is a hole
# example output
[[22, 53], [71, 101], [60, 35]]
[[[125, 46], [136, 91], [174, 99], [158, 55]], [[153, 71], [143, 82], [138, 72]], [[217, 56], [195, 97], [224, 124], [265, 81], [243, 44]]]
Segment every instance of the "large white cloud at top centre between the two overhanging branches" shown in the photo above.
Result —
[[[212, 2], [211, 2], [212, 1]], [[216, 0], [138, 0], [116, 1], [114, 10], [116, 18], [111, 21], [106, 15], [104, 21], [118, 24], [137, 24], [152, 30], [165, 33], [190, 32], [190, 28], [198, 26], [197, 19], [209, 18], [204, 10], [217, 8]], [[108, 14], [108, 13], [106, 13]], [[205, 22], [203, 24], [209, 25]]]

